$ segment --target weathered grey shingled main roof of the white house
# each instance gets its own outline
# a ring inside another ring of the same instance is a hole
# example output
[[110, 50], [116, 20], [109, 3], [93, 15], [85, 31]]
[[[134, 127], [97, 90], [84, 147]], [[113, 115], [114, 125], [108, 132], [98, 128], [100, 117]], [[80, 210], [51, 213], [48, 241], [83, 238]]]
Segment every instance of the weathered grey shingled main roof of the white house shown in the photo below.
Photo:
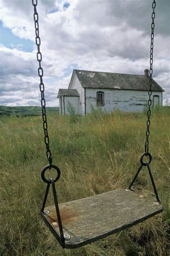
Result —
[[[148, 76], [74, 69], [82, 87], [148, 91]], [[152, 90], [164, 91], [152, 78]]]

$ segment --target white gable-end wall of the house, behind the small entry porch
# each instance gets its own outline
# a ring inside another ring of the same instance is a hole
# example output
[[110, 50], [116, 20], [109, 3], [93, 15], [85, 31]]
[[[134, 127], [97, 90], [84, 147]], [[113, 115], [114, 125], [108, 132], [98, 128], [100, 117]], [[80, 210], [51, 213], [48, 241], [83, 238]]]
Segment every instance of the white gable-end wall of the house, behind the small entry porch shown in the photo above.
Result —
[[[80, 81], [75, 72], [74, 72], [72, 81], [70, 82], [68, 89], [76, 89], [77, 92], [79, 93], [79, 95], [80, 95], [80, 97], [79, 97], [79, 114], [84, 115], [85, 114], [85, 93], [84, 93], [85, 90], [81, 86]], [[69, 97], [69, 98], [71, 98], [71, 97]]]

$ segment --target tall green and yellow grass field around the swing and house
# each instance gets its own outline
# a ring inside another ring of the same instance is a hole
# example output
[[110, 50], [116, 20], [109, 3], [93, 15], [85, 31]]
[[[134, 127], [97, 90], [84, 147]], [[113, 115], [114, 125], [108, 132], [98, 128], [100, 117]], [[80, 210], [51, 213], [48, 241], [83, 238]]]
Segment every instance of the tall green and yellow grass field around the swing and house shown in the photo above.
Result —
[[[127, 188], [144, 152], [146, 113], [93, 112], [85, 117], [48, 116], [59, 203]], [[40, 218], [47, 165], [42, 118], [1, 116], [1, 255], [166, 256], [170, 109], [152, 111], [150, 164], [164, 211], [144, 223], [74, 250], [63, 250]], [[49, 173], [54, 178], [53, 172]], [[133, 189], [153, 197], [142, 169]], [[53, 205], [50, 193], [47, 205]]]

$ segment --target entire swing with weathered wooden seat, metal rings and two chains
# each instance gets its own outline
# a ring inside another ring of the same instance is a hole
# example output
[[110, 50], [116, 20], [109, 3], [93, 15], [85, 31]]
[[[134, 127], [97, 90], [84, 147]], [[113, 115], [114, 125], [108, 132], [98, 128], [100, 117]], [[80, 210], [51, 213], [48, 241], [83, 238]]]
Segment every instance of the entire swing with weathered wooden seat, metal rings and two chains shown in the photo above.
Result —
[[[44, 84], [42, 78], [43, 69], [41, 67], [41, 41], [39, 37], [38, 13], [36, 9], [37, 0], [32, 0], [32, 4], [34, 6], [34, 24], [36, 30], [36, 45], [38, 50], [38, 76], [40, 77], [39, 88], [41, 91], [44, 142], [46, 144], [46, 156], [49, 161], [49, 165], [45, 166], [41, 172], [42, 180], [47, 183], [46, 193], [41, 209], [41, 217], [63, 248], [76, 248], [141, 223], [142, 221], [163, 211], [163, 207], [161, 206], [161, 202], [159, 200], [154, 179], [152, 177], [151, 169], [149, 166], [152, 161], [152, 157], [148, 152], [152, 94], [151, 85], [155, 27], [154, 19], [156, 3], [155, 0], [152, 3], [153, 11], [151, 23], [150, 76], [148, 79], [148, 118], [146, 122], [147, 130], [145, 152], [141, 155], [140, 158], [141, 165], [127, 189], [113, 190], [107, 193], [99, 194], [97, 196], [91, 196], [76, 201], [61, 203], [60, 205], [58, 205], [55, 189], [55, 182], [60, 178], [60, 169], [58, 166], [52, 164], [52, 154], [49, 149], [46, 101], [44, 98]], [[144, 156], [148, 157], [148, 162], [143, 161]], [[131, 189], [143, 166], [146, 166], [148, 169], [157, 200], [156, 202], [154, 202], [153, 199], [140, 195]], [[57, 171], [57, 177], [55, 179], [50, 178], [47, 180], [45, 178], [45, 172], [51, 168]], [[55, 205], [45, 208], [50, 185], [52, 185]]]

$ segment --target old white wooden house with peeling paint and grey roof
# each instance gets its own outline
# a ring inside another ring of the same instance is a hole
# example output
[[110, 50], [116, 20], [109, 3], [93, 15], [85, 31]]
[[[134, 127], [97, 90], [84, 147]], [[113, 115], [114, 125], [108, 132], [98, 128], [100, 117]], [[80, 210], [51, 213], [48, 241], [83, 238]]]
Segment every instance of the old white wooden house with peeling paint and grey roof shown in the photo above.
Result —
[[[76, 114], [85, 115], [94, 108], [110, 112], [142, 111], [148, 100], [148, 69], [145, 75], [128, 75], [74, 69], [68, 89], [59, 89], [60, 114], [69, 114], [69, 106]], [[162, 105], [162, 87], [153, 80], [152, 106]]]

